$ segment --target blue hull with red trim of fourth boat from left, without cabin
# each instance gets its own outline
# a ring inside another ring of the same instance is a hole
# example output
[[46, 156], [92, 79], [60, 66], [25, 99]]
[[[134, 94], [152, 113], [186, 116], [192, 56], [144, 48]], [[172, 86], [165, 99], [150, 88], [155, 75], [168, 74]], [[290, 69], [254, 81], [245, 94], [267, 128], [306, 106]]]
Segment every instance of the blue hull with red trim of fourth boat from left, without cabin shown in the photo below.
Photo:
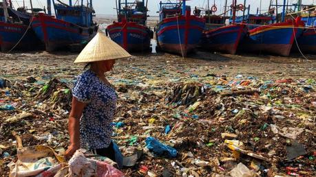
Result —
[[162, 51], [187, 56], [200, 43], [204, 26], [204, 19], [188, 14], [163, 19], [156, 26], [157, 45]]

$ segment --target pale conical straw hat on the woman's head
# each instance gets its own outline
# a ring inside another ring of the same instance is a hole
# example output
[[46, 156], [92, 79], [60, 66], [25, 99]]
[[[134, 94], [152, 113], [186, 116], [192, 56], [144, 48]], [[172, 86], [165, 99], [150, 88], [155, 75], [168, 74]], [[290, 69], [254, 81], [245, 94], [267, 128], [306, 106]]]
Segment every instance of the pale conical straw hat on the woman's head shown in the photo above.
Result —
[[110, 40], [102, 32], [98, 32], [94, 38], [85, 46], [74, 63], [97, 62], [103, 60], [114, 60], [131, 57], [125, 49]]

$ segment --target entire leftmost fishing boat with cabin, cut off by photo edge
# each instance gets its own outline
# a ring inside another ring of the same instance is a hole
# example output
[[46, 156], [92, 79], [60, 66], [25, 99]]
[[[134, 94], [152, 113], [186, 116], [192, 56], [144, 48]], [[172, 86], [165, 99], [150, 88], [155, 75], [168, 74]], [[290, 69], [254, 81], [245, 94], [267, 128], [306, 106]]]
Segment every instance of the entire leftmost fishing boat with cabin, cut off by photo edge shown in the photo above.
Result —
[[3, 1], [0, 5], [3, 12], [0, 16], [1, 51], [31, 50], [39, 46], [41, 41], [30, 28], [32, 14], [26, 12], [25, 8], [14, 10], [11, 1]]

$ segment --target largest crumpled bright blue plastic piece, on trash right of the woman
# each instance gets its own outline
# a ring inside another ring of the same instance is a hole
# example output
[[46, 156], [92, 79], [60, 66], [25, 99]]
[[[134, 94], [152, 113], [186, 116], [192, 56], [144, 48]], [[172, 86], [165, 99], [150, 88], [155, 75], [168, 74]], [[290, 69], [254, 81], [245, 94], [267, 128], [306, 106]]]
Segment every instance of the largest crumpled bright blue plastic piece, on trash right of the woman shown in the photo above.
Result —
[[147, 137], [146, 141], [146, 147], [150, 152], [153, 152], [156, 156], [168, 156], [168, 157], [176, 157], [177, 156], [177, 150], [173, 147], [170, 147], [169, 145], [164, 145], [154, 139], [153, 137]]

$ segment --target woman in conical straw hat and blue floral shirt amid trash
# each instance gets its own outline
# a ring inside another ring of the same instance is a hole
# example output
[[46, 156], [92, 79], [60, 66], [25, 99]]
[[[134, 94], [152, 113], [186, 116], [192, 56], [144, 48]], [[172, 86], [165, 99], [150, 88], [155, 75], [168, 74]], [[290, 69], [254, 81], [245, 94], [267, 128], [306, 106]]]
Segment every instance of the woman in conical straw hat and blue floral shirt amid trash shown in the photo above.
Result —
[[112, 70], [116, 59], [128, 57], [127, 51], [99, 32], [74, 61], [88, 62], [90, 68], [78, 77], [73, 89], [66, 158], [84, 148], [116, 160], [111, 123], [117, 95], [104, 73]]

